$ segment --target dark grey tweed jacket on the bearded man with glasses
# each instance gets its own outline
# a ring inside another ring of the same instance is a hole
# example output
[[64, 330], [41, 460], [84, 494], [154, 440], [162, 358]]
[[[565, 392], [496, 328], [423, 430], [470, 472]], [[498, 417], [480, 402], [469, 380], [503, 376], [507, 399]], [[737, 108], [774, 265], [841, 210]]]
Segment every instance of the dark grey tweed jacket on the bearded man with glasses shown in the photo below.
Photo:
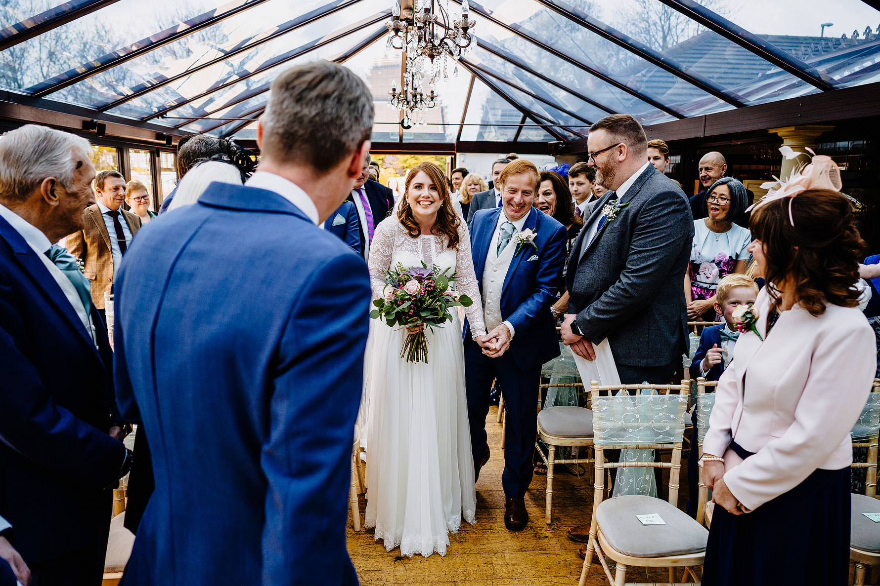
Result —
[[614, 192], [584, 221], [568, 259], [568, 313], [593, 344], [605, 338], [619, 365], [665, 366], [687, 352], [682, 287], [693, 243], [685, 193], [653, 165], [624, 193], [616, 217], [583, 239]]

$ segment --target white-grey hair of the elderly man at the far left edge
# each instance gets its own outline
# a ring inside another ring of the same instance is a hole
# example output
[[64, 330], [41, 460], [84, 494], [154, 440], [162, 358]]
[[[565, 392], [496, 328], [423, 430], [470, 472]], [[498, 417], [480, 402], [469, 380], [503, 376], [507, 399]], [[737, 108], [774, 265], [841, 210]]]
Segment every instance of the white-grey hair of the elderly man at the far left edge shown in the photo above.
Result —
[[26, 124], [0, 136], [0, 200], [25, 201], [47, 177], [70, 187], [92, 145], [76, 134]]

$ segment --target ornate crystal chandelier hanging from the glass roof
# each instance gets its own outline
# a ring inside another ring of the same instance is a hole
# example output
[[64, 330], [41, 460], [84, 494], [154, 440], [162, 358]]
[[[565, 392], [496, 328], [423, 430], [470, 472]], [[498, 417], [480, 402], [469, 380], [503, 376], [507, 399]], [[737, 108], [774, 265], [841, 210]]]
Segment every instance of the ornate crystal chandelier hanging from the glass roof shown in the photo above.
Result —
[[[449, 0], [393, 0], [392, 19], [385, 23], [386, 46], [402, 50], [406, 58], [402, 87], [398, 91], [393, 83], [388, 104], [403, 112], [404, 128], [423, 123], [422, 112], [436, 105], [436, 83], [449, 79], [449, 58], [458, 61], [476, 47], [470, 33], [475, 24], [467, 0], [462, 0], [457, 20], [450, 16]], [[452, 75], [458, 76], [458, 65]]]

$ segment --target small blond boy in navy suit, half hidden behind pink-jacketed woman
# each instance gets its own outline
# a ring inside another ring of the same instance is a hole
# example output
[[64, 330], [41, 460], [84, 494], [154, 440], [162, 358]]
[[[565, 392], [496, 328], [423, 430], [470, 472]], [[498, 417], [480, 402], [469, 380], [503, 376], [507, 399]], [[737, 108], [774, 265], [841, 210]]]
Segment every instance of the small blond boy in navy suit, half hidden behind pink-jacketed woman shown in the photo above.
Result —
[[[719, 380], [724, 369], [730, 365], [733, 358], [733, 347], [737, 344], [739, 332], [733, 324], [733, 310], [740, 305], [754, 303], [758, 297], [758, 285], [751, 277], [739, 273], [733, 273], [718, 282], [715, 291], [715, 312], [724, 316], [724, 323], [716, 326], [708, 326], [700, 334], [700, 346], [693, 354], [691, 363], [691, 379], [696, 380], [704, 377], [706, 380]], [[697, 467], [697, 410], [691, 414], [693, 423], [693, 437], [691, 439], [691, 453], [687, 457], [687, 485], [688, 495], [693, 500], [697, 494], [697, 478], [700, 474]], [[691, 501], [688, 501], [688, 510], [695, 516], [696, 511], [690, 510]]]

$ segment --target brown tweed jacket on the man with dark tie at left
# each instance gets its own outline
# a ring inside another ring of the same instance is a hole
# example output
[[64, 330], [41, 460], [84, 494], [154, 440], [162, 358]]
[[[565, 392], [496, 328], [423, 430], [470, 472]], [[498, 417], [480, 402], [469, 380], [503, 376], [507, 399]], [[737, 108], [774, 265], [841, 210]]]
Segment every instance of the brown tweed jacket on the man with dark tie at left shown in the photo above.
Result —
[[[134, 237], [141, 228], [141, 219], [136, 214], [120, 208], [122, 217]], [[113, 286], [113, 251], [110, 249], [110, 235], [98, 204], [85, 208], [84, 226], [79, 232], [69, 235], [64, 243], [74, 257], [85, 263], [83, 274], [92, 282], [92, 303], [104, 308], [104, 292]]]

